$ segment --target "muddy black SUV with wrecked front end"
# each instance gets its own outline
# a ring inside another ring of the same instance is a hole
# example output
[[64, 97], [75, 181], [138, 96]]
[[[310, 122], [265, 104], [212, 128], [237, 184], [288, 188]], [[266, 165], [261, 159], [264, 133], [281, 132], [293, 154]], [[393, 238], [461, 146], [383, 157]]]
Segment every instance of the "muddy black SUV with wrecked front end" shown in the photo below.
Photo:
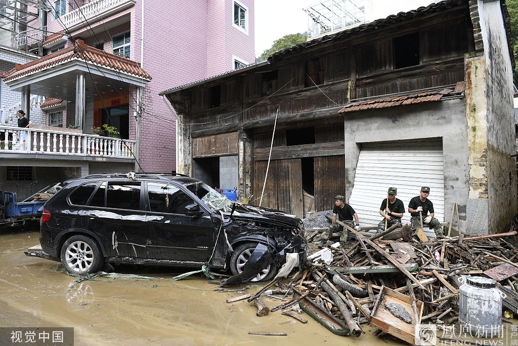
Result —
[[[231, 202], [198, 179], [97, 174], [64, 185], [45, 204], [40, 243], [45, 258], [61, 260], [71, 273], [96, 272], [109, 262], [208, 264], [238, 275], [253, 259], [262, 265], [247, 280], [262, 281], [273, 278], [286, 253], [299, 253], [299, 265], [306, 260], [298, 217]], [[264, 253], [269, 260], [258, 260]]]

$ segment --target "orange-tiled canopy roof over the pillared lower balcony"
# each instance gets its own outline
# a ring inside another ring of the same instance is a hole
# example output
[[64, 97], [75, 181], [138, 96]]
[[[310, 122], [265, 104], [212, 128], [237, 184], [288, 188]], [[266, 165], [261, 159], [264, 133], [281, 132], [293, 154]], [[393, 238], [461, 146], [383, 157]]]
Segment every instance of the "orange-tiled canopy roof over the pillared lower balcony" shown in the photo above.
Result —
[[80, 39], [76, 40], [74, 46], [67, 47], [23, 65], [17, 64], [15, 68], [0, 75], [0, 77], [5, 78], [4, 81], [8, 82], [72, 60], [90, 62], [94, 65], [151, 80], [151, 76], [140, 68], [138, 62], [87, 46]]

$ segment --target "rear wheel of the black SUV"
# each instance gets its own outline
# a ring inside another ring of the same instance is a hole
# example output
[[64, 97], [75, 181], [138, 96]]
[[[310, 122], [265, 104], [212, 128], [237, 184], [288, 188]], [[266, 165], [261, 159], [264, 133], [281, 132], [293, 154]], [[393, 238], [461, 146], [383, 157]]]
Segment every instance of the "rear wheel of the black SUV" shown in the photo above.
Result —
[[87, 236], [72, 236], [61, 248], [61, 263], [74, 274], [91, 274], [104, 265], [103, 252], [95, 240]]

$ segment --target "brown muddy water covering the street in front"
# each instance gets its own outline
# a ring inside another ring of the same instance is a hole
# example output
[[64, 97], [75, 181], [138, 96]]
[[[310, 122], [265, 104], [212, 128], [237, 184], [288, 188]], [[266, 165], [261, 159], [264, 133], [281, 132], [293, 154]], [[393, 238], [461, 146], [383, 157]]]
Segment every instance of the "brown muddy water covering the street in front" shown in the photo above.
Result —
[[[307, 324], [280, 311], [257, 317], [253, 303], [227, 304], [225, 299], [253, 294], [258, 286], [227, 287], [242, 290], [217, 293], [217, 286], [198, 275], [168, 280], [177, 274], [174, 269], [167, 269], [169, 275], [139, 270], [161, 280], [96, 278], [69, 288], [76, 278], [65, 274], [61, 264], [23, 254], [38, 244], [38, 237], [34, 231], [0, 233], [0, 326], [74, 327], [76, 345], [404, 344], [390, 336], [381, 341], [368, 326], [358, 339], [336, 336], [307, 314], [302, 315]], [[270, 307], [279, 303], [269, 298], [265, 302]], [[287, 336], [253, 336], [249, 331]]]

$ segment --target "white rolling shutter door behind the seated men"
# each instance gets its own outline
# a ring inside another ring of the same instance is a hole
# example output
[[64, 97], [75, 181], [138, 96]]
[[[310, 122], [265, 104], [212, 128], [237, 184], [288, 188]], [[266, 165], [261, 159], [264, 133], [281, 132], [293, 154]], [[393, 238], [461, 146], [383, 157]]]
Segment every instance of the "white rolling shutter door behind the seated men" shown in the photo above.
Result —
[[[435, 217], [444, 222], [442, 141], [363, 144], [349, 198], [361, 226], [376, 226], [383, 219], [379, 214], [380, 205], [391, 186], [397, 188], [397, 198], [405, 205], [403, 224], [410, 223], [408, 203], [419, 196], [422, 186], [430, 187], [428, 198], [434, 203]], [[424, 231], [435, 237], [428, 227]]]

